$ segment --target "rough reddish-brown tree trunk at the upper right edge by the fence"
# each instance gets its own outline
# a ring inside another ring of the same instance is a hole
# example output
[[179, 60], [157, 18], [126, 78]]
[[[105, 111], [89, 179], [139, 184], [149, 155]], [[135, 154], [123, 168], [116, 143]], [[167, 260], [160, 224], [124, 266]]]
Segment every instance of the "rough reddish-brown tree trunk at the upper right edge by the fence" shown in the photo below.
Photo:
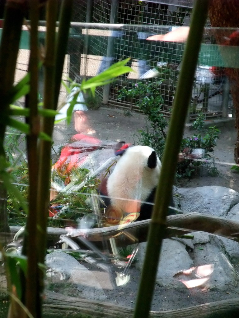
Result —
[[[239, 27], [239, 2], [238, 0], [210, 0], [208, 15], [212, 27], [237, 28]], [[225, 39], [232, 31], [215, 32], [215, 38], [220, 45], [239, 45], [239, 32], [231, 40]], [[235, 107], [235, 128], [237, 129], [237, 141], [235, 143], [234, 159], [239, 164], [239, 69], [226, 68], [226, 75], [231, 84], [233, 105]]]

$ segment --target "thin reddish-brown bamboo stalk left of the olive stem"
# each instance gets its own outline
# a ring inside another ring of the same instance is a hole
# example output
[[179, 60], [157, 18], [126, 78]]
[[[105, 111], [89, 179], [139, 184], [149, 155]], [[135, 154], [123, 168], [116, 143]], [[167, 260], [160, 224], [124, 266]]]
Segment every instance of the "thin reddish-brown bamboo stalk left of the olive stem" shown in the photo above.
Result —
[[29, 15], [31, 19], [30, 30], [30, 59], [28, 71], [30, 73], [30, 92], [26, 95], [25, 107], [29, 108], [29, 117], [26, 122], [30, 126], [30, 134], [26, 135], [29, 192], [28, 192], [28, 217], [26, 222], [24, 253], [28, 258], [28, 266], [25, 280], [25, 293], [22, 302], [30, 313], [36, 317], [40, 293], [38, 286], [38, 259], [36, 249], [36, 196], [38, 187], [38, 153], [37, 142], [40, 132], [40, 121], [38, 116], [38, 20], [39, 0], [29, 1]]

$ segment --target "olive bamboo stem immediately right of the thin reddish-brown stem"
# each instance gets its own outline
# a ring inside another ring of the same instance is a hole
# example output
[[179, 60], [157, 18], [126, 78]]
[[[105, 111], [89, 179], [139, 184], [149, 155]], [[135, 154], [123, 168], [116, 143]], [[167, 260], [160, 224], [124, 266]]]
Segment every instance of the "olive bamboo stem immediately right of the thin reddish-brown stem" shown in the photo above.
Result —
[[[55, 75], [55, 25], [57, 17], [57, 1], [49, 0], [47, 2], [47, 35], [44, 60], [44, 108], [53, 109], [54, 104], [54, 75]], [[49, 136], [52, 135], [54, 118], [44, 117], [42, 130]], [[40, 140], [39, 142], [39, 171], [38, 171], [38, 190], [37, 190], [37, 252], [38, 262], [44, 264], [46, 250], [46, 227], [47, 213], [49, 204], [49, 185], [50, 185], [50, 155], [51, 142]], [[38, 284], [40, 294], [44, 289], [44, 275], [39, 268]], [[38, 305], [38, 315], [41, 317], [42, 299]]]

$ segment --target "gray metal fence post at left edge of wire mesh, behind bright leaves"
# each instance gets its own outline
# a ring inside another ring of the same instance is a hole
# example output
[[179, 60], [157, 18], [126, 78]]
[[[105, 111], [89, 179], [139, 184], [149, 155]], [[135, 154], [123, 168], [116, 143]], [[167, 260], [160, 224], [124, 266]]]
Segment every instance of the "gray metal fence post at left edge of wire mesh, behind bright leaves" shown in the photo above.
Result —
[[[110, 11], [110, 23], [117, 22], [117, 10], [118, 10], [118, 0], [112, 0], [111, 11]], [[106, 56], [111, 58], [114, 56], [114, 37], [108, 38], [107, 53]], [[107, 84], [103, 88], [103, 104], [107, 104], [110, 96], [110, 84]]]

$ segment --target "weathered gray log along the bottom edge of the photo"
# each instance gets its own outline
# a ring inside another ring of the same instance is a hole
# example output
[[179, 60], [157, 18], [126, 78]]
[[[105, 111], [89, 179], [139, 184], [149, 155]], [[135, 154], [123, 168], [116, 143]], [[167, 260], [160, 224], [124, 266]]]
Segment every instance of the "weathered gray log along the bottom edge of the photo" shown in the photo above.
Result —
[[[91, 301], [47, 292], [43, 304], [43, 318], [132, 318], [132, 308], [111, 303]], [[239, 298], [215, 301], [193, 307], [151, 311], [150, 318], [225, 318], [239, 316]]]

